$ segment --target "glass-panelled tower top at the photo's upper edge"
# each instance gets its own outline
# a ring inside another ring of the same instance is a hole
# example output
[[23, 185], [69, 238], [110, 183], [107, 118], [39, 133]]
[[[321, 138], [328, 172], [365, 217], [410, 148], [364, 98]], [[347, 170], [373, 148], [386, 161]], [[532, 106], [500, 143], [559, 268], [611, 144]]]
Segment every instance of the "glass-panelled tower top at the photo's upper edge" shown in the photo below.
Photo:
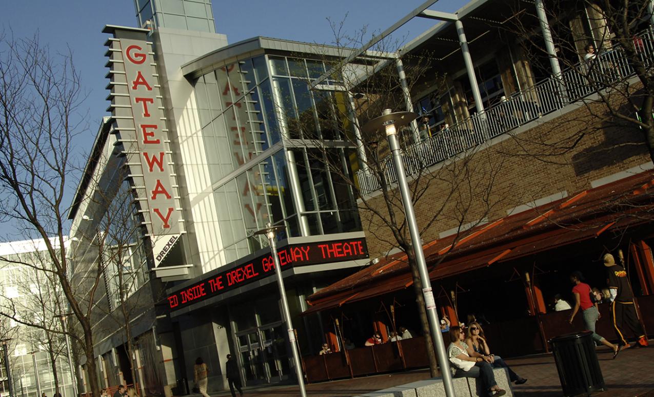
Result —
[[139, 26], [215, 33], [211, 0], [134, 0]]

